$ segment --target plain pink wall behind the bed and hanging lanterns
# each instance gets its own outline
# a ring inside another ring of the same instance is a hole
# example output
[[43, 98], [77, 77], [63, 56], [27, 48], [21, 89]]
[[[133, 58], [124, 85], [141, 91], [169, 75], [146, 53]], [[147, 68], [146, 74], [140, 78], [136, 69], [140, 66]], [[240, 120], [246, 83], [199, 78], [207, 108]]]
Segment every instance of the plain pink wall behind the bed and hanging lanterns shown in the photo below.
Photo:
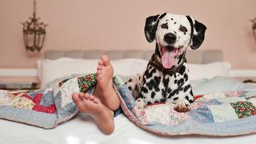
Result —
[[249, 19], [254, 0], [38, 0], [38, 16], [49, 23], [39, 55], [26, 53], [22, 25], [32, 0], [0, 0], [0, 68], [35, 68], [44, 50], [154, 50], [143, 34], [145, 18], [190, 14], [207, 27], [201, 50], [223, 50], [234, 69], [256, 69], [256, 43]]

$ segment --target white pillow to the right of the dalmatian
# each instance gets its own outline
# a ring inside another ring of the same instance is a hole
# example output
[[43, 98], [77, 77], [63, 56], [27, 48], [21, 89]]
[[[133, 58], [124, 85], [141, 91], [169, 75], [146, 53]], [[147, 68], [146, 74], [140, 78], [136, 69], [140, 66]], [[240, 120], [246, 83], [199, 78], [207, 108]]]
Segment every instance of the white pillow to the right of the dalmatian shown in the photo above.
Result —
[[229, 62], [211, 62], [207, 64], [188, 64], [190, 80], [201, 78], [214, 78], [215, 76], [228, 76], [230, 72]]

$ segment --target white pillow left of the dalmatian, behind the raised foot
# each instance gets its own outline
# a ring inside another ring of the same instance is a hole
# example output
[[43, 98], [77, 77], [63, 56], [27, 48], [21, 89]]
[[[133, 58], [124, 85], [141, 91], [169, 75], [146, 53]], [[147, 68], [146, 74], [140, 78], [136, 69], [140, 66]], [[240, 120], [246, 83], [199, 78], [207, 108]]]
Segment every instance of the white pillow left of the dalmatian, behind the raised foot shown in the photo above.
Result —
[[[114, 74], [123, 77], [131, 77], [142, 73], [147, 66], [148, 61], [137, 58], [126, 58], [111, 61], [114, 67]], [[58, 58], [56, 60], [38, 61], [38, 78], [41, 87], [45, 87], [49, 82], [58, 78], [70, 78], [78, 74], [95, 73], [98, 66], [98, 59], [80, 59], [80, 58]]]

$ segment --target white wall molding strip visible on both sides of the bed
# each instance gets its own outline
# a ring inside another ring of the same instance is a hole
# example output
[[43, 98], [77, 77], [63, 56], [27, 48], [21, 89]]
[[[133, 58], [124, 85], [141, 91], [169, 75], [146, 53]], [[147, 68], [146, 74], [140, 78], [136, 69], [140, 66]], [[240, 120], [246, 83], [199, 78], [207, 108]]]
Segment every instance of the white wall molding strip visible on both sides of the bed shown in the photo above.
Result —
[[[0, 77], [37, 77], [37, 69], [0, 69]], [[256, 78], [256, 70], [230, 70], [230, 77]]]

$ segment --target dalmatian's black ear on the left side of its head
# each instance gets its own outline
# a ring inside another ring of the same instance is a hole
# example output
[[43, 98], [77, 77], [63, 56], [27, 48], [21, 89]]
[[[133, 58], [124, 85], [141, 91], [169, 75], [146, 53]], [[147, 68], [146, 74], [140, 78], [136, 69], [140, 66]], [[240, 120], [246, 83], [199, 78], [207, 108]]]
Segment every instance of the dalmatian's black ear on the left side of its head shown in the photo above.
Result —
[[159, 15], [154, 15], [146, 18], [146, 24], [144, 27], [144, 34], [148, 42], [153, 42], [155, 38], [155, 32], [158, 29], [158, 17]]

